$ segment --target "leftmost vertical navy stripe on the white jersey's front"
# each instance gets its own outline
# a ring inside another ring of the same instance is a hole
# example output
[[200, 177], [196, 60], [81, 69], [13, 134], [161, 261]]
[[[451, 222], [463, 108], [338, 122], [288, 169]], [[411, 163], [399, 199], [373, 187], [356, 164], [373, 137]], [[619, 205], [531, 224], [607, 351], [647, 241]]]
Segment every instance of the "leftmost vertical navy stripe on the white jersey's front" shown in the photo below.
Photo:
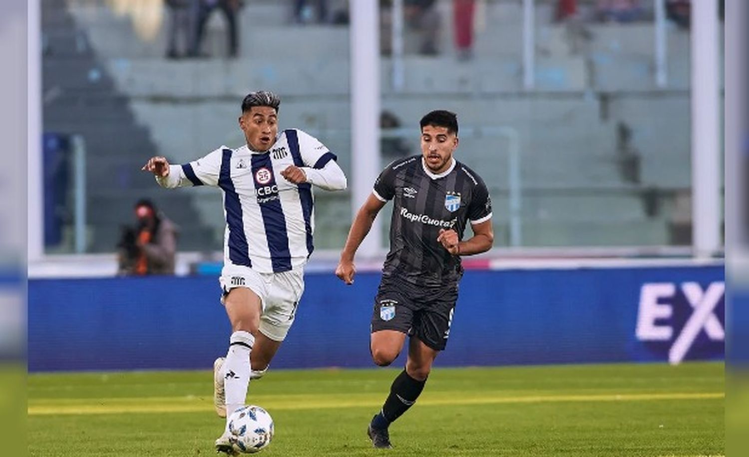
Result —
[[221, 171], [219, 172], [219, 187], [224, 191], [224, 208], [226, 210], [226, 225], [229, 228], [229, 260], [235, 265], [252, 267], [249, 261], [249, 247], [244, 234], [242, 223], [242, 205], [239, 195], [234, 190], [231, 181], [231, 149], [224, 149], [221, 157]]

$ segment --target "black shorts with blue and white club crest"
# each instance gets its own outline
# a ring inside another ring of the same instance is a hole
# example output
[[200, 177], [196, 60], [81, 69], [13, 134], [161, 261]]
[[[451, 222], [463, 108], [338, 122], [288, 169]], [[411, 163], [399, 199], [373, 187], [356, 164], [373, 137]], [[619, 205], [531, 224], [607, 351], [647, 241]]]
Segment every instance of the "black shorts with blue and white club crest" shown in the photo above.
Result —
[[416, 336], [435, 351], [443, 351], [457, 300], [457, 282], [440, 288], [422, 288], [383, 276], [375, 297], [372, 333], [398, 330]]

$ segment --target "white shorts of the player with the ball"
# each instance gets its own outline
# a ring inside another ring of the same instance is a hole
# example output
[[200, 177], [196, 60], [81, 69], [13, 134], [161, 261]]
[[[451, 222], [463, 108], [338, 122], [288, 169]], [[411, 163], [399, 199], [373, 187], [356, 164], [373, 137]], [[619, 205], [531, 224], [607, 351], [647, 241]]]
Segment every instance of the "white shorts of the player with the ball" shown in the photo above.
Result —
[[258, 273], [250, 267], [224, 265], [219, 277], [224, 297], [236, 287], [246, 287], [260, 297], [262, 312], [258, 330], [273, 341], [283, 341], [297, 316], [297, 305], [304, 292], [304, 270], [299, 267], [282, 273]]

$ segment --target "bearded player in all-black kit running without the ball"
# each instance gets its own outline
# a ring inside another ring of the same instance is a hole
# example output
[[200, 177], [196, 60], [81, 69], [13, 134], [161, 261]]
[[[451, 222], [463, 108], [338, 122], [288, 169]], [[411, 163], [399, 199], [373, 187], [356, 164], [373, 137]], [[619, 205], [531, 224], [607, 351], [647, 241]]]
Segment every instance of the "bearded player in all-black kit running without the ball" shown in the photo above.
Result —
[[[354, 282], [354, 254], [377, 213], [392, 200], [390, 250], [372, 314], [372, 359], [388, 366], [406, 336], [410, 339], [406, 367], [367, 429], [379, 448], [391, 447], [390, 423], [416, 402], [434, 358], [445, 348], [463, 275], [461, 255], [488, 251], [494, 241], [486, 184], [452, 157], [458, 147], [455, 113], [432, 111], [420, 124], [422, 155], [395, 160], [380, 173], [336, 268], [346, 284]], [[464, 240], [469, 221], [473, 237]]]

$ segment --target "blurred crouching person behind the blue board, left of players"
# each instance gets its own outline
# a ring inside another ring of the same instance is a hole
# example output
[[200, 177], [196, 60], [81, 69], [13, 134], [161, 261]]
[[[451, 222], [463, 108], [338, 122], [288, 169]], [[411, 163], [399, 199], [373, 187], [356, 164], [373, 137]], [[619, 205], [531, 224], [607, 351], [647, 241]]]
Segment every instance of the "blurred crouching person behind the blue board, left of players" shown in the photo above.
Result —
[[124, 227], [118, 243], [118, 274], [174, 274], [177, 227], [151, 200], [135, 205], [136, 226]]

